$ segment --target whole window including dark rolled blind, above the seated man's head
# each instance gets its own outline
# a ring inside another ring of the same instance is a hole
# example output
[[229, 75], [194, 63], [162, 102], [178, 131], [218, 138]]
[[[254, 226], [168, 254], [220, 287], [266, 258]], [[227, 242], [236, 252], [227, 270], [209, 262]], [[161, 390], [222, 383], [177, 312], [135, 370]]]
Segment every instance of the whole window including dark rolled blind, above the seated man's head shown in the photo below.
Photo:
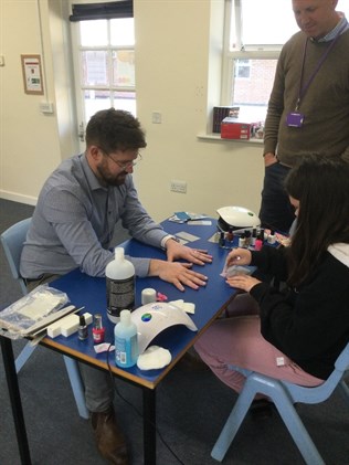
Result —
[[75, 0], [70, 20], [76, 116], [83, 142], [86, 123], [96, 112], [115, 107], [136, 115], [133, 1]]

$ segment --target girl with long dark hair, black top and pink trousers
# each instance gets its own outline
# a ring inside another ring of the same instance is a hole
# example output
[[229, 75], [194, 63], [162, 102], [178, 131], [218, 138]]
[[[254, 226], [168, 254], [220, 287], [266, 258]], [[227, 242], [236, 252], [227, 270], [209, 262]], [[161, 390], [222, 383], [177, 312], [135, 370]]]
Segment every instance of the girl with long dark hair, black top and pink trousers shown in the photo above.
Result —
[[[226, 279], [245, 290], [195, 344], [211, 370], [240, 392], [244, 377], [229, 364], [302, 385], [321, 384], [349, 340], [349, 163], [307, 156], [285, 188], [297, 215], [289, 247], [235, 249], [226, 264], [255, 265], [286, 283]], [[244, 311], [239, 311], [241, 302]]]

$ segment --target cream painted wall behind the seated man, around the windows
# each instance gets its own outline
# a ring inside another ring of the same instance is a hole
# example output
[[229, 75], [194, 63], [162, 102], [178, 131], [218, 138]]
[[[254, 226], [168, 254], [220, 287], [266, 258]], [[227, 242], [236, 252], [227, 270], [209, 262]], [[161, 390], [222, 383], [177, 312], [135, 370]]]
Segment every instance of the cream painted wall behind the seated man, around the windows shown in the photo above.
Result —
[[[67, 0], [0, 0], [0, 197], [33, 203], [49, 173], [76, 151]], [[223, 0], [135, 0], [137, 112], [148, 147], [135, 173], [156, 220], [178, 210], [258, 211], [262, 147], [199, 139], [220, 94]], [[39, 8], [38, 8], [39, 7]], [[41, 21], [41, 28], [40, 28]], [[42, 30], [42, 33], [40, 32]], [[43, 53], [44, 52], [44, 53]], [[21, 54], [43, 54], [46, 95], [25, 95]], [[54, 115], [43, 115], [42, 101]], [[160, 112], [162, 123], [151, 123]], [[170, 180], [188, 183], [170, 192]]]

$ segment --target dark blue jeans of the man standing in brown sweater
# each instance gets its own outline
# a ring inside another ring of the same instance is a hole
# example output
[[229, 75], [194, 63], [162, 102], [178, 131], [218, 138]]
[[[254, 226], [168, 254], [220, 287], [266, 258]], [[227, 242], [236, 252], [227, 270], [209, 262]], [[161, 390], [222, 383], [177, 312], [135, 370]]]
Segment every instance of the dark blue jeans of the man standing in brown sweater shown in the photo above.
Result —
[[261, 223], [264, 228], [283, 233], [288, 233], [295, 220], [294, 208], [284, 188], [288, 171], [288, 167], [278, 162], [265, 168], [260, 211]]

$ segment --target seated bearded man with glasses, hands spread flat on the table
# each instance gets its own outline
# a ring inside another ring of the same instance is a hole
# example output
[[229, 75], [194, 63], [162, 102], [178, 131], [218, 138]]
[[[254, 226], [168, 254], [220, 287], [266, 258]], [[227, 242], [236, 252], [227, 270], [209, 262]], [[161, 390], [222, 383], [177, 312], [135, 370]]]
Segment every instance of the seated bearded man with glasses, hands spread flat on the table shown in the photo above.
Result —
[[[190, 268], [212, 257], [179, 244], [138, 200], [131, 173], [140, 159], [138, 150], [146, 145], [139, 121], [127, 112], [110, 108], [91, 118], [86, 151], [63, 161], [40, 192], [21, 256], [21, 275], [29, 289], [76, 267], [91, 276], [104, 276], [114, 258], [109, 244], [118, 221], [133, 237], [161, 247], [167, 255], [167, 260], [128, 257], [137, 276], [159, 276], [180, 290], [205, 285], [207, 277]], [[177, 258], [189, 263], [174, 262]], [[112, 464], [129, 464], [113, 409], [109, 374], [84, 363], [81, 370], [101, 455]]]

